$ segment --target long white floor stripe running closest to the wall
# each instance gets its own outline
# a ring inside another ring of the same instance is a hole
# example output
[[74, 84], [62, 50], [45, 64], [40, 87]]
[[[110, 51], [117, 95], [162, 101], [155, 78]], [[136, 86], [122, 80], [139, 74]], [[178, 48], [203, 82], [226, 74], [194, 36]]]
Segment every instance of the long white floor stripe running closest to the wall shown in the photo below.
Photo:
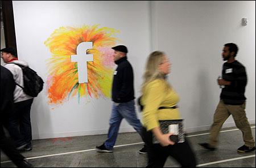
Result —
[[[255, 126], [251, 127], [251, 128], [255, 128]], [[220, 131], [220, 132], [228, 132], [228, 131], [237, 131], [238, 129], [233, 129], [233, 130], [225, 130], [225, 131]], [[201, 136], [201, 135], [207, 135], [209, 133], [200, 133], [200, 134], [196, 134], [196, 135], [190, 135], [187, 137], [192, 137], [192, 136]], [[139, 144], [144, 144], [142, 143], [133, 143], [133, 144], [125, 144], [125, 145], [117, 145], [114, 146], [114, 148], [118, 148], [118, 147], [126, 147], [126, 146], [130, 146], [130, 145], [139, 145]], [[52, 157], [52, 156], [60, 156], [60, 155], [65, 155], [65, 154], [73, 154], [73, 153], [81, 153], [81, 152], [89, 152], [89, 151], [93, 151], [96, 149], [87, 149], [87, 150], [78, 150], [78, 151], [74, 151], [74, 152], [65, 152], [65, 153], [57, 153], [57, 154], [49, 154], [49, 155], [45, 155], [45, 156], [36, 156], [36, 157], [28, 157], [26, 158], [26, 160], [32, 160], [32, 159], [36, 159], [36, 158], [44, 158], [44, 157]], [[254, 155], [255, 156], [255, 155]], [[7, 162], [11, 162], [11, 161], [3, 161], [1, 163], [7, 163]], [[214, 164], [214, 163], [213, 163]]]

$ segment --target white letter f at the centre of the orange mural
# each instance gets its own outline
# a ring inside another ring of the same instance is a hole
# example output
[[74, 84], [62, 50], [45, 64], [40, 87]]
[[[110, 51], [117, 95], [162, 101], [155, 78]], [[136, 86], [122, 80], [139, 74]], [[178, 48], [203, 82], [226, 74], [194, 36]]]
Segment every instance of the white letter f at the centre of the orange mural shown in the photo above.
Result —
[[88, 83], [87, 62], [93, 61], [93, 54], [86, 54], [86, 51], [92, 48], [92, 42], [81, 42], [76, 48], [77, 55], [71, 55], [71, 62], [77, 62], [79, 83]]

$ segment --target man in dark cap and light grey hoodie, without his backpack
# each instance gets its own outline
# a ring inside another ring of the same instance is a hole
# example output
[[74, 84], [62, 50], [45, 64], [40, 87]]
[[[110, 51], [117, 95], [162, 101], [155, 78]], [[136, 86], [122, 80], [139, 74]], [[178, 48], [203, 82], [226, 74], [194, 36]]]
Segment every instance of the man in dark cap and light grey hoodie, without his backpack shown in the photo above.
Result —
[[16, 149], [31, 150], [31, 120], [30, 110], [33, 97], [23, 90], [23, 71], [21, 67], [28, 67], [28, 64], [19, 61], [16, 50], [13, 48], [1, 49], [1, 58], [6, 63], [5, 67], [13, 74], [16, 87], [14, 90], [14, 114], [9, 119], [7, 130], [11, 138], [15, 141]]

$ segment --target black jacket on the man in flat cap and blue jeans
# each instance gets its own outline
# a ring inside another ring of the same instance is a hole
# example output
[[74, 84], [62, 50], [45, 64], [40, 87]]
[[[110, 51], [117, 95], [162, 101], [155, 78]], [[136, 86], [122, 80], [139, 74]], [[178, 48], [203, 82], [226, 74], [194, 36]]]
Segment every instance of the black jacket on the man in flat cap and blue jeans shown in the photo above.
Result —
[[114, 71], [112, 84], [112, 100], [117, 103], [134, 100], [133, 67], [123, 57], [115, 61], [118, 65]]

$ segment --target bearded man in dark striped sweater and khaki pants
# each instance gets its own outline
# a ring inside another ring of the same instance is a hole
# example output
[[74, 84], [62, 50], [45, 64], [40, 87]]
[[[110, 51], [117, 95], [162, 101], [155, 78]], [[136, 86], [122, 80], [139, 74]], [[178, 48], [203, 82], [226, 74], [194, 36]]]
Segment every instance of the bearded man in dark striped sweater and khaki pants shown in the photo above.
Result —
[[222, 67], [222, 79], [218, 79], [218, 85], [222, 87], [220, 102], [214, 113], [213, 124], [210, 128], [209, 143], [200, 143], [201, 147], [214, 150], [216, 149], [218, 133], [222, 124], [230, 115], [239, 130], [242, 131], [242, 147], [237, 152], [245, 153], [255, 150], [255, 141], [251, 133], [251, 127], [245, 113], [245, 87], [247, 84], [247, 75], [245, 67], [238, 62], [235, 57], [238, 47], [236, 44], [228, 43], [222, 50], [223, 60], [226, 61]]

